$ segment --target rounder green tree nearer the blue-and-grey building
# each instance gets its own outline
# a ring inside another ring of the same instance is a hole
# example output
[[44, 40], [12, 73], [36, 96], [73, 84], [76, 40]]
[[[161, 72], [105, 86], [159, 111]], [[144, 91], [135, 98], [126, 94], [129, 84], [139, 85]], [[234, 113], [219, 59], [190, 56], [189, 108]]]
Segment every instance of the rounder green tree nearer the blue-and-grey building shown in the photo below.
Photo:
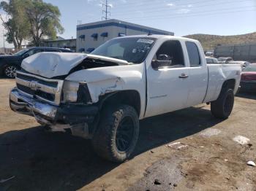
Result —
[[26, 15], [29, 19], [29, 31], [34, 45], [39, 46], [42, 39], [56, 39], [57, 33], [62, 34], [59, 8], [42, 0], [27, 0]]

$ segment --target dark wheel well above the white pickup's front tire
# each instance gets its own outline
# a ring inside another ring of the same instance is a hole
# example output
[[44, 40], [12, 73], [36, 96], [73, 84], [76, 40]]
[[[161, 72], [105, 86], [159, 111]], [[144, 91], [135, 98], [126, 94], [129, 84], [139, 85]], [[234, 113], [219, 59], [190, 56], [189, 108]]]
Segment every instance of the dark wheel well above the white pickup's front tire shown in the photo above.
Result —
[[140, 93], [136, 90], [121, 90], [115, 93], [108, 93], [100, 98], [101, 110], [107, 104], [126, 104], [135, 108], [138, 116], [140, 116]]

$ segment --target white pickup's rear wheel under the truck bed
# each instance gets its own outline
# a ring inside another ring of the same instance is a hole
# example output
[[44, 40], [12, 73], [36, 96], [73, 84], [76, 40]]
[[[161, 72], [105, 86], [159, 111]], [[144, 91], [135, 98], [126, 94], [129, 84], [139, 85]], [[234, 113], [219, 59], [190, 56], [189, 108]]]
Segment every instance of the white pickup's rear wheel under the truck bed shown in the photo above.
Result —
[[211, 114], [219, 119], [227, 119], [234, 105], [234, 93], [232, 89], [222, 90], [219, 98], [211, 102]]

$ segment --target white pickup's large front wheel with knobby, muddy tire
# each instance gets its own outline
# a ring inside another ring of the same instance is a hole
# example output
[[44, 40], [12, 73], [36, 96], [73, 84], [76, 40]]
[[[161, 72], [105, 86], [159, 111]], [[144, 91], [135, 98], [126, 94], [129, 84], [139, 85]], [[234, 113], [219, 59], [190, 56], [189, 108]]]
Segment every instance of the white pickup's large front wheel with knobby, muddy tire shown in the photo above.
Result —
[[99, 156], [121, 163], [132, 155], [138, 136], [138, 114], [132, 106], [107, 106], [102, 111], [92, 144]]

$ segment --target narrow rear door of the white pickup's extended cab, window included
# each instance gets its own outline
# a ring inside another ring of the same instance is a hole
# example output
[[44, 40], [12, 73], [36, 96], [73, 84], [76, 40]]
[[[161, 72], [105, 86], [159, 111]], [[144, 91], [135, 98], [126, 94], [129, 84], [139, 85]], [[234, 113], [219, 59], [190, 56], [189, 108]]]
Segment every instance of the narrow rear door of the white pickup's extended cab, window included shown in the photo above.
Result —
[[195, 42], [185, 42], [189, 60], [189, 96], [187, 106], [201, 104], [206, 96], [208, 69], [203, 49]]

